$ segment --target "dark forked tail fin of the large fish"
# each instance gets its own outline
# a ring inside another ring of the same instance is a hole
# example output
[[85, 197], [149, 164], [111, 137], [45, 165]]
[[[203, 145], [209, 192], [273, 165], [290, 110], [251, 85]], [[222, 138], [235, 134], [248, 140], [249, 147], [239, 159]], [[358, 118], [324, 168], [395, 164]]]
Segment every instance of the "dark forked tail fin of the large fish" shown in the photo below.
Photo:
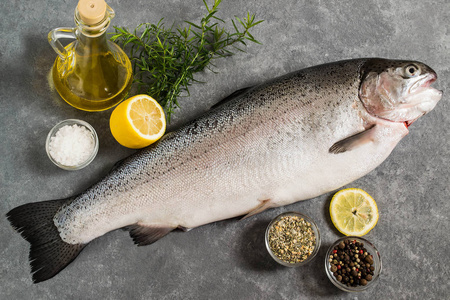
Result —
[[70, 264], [85, 244], [68, 244], [59, 235], [53, 217], [70, 199], [28, 203], [6, 214], [11, 225], [30, 243], [33, 282], [52, 278]]

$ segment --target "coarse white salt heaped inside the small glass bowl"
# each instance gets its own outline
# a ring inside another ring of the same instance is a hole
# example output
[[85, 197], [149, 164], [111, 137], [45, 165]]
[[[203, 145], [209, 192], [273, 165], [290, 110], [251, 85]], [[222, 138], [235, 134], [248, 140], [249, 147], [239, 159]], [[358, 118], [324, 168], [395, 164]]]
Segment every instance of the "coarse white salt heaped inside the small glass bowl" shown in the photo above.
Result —
[[85, 162], [95, 148], [92, 133], [84, 126], [65, 125], [50, 138], [49, 153], [61, 165], [77, 166]]

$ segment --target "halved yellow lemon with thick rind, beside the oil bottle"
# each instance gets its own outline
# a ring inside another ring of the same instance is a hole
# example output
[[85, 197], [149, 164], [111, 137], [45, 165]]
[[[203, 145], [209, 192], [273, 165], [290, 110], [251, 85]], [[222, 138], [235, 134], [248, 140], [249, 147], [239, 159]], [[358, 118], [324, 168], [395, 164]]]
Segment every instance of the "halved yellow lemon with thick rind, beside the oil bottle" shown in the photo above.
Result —
[[114, 109], [109, 127], [122, 146], [139, 149], [156, 142], [164, 135], [166, 117], [155, 99], [148, 95], [136, 95]]

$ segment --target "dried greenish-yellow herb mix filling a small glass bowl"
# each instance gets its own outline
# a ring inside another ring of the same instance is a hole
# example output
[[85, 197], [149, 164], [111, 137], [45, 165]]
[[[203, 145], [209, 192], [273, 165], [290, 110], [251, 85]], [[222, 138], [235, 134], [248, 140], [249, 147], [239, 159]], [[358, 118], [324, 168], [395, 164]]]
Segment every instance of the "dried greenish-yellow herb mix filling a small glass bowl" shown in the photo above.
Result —
[[310, 222], [299, 216], [282, 216], [269, 229], [269, 246], [282, 261], [296, 264], [306, 260], [316, 247]]

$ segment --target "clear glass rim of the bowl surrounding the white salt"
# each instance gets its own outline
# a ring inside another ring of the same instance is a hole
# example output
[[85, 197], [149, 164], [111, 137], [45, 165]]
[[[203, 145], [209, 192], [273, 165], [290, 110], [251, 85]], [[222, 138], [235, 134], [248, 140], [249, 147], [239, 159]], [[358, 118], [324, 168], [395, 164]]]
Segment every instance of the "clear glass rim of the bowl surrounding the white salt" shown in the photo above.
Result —
[[[66, 125], [79, 125], [79, 126], [83, 126], [85, 127], [87, 130], [89, 130], [89, 132], [92, 134], [92, 139], [94, 140], [94, 150], [92, 151], [91, 155], [89, 155], [89, 157], [82, 163], [78, 164], [78, 165], [74, 165], [74, 166], [66, 166], [63, 165], [59, 162], [57, 162], [50, 154], [50, 141], [51, 138], [54, 137], [56, 135], [56, 133], [58, 132], [58, 130]], [[97, 155], [98, 152], [98, 136], [97, 133], [95, 132], [95, 129], [87, 122], [82, 121], [82, 120], [77, 120], [77, 119], [67, 119], [64, 121], [59, 122], [58, 124], [56, 124], [48, 133], [47, 135], [47, 140], [45, 141], [45, 151], [47, 152], [48, 157], [50, 158], [50, 160], [57, 165], [58, 167], [60, 167], [61, 169], [64, 170], [70, 170], [70, 171], [74, 171], [74, 170], [79, 170], [82, 169], [84, 167], [86, 167], [87, 165], [89, 165], [95, 158], [95, 156]]]

